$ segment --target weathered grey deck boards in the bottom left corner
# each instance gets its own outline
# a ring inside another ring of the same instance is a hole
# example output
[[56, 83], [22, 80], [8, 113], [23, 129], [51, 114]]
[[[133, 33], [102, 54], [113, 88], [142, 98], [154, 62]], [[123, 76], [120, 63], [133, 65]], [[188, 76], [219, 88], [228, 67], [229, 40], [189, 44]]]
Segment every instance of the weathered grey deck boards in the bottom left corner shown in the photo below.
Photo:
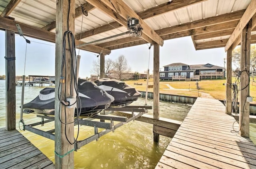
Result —
[[1, 169], [54, 169], [54, 164], [18, 130], [0, 129]]

